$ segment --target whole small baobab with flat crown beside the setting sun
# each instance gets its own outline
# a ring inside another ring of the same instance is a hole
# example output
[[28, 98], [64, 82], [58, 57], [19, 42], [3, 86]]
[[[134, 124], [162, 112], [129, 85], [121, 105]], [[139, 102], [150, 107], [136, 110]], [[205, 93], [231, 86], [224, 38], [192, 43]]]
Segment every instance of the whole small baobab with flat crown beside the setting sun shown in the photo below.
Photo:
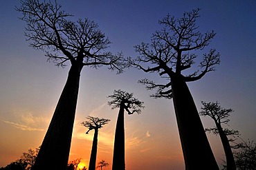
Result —
[[89, 170], [95, 170], [99, 129], [102, 128], [103, 125], [106, 125], [107, 123], [109, 123], [110, 120], [105, 118], [94, 118], [93, 116], [87, 116], [87, 119], [88, 120], [82, 122], [82, 125], [88, 128], [88, 131], [86, 131], [86, 134], [89, 134], [89, 131], [94, 130], [93, 145], [91, 147], [91, 158], [89, 162]]

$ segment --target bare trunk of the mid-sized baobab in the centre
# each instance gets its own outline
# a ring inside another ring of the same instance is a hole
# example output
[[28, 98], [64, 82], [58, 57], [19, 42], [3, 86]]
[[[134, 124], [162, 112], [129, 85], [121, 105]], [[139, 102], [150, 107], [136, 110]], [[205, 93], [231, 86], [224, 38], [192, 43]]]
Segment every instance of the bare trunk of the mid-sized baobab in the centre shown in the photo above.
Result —
[[125, 170], [125, 108], [122, 103], [116, 122], [112, 170]]

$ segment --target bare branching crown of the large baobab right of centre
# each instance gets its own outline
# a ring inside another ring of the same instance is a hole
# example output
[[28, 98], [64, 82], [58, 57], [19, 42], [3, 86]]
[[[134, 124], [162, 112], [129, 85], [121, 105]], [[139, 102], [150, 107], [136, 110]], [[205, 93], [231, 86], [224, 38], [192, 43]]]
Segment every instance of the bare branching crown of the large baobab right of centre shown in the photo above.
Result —
[[139, 56], [136, 59], [129, 58], [131, 65], [144, 72], [157, 72], [168, 81], [162, 85], [147, 79], [140, 81], [147, 86], [147, 89], [158, 89], [158, 92], [152, 95], [153, 97], [172, 98], [169, 82], [174, 75], [183, 76], [185, 82], [197, 81], [207, 72], [214, 71], [215, 65], [219, 65], [219, 52], [210, 49], [208, 53], [202, 55], [198, 65], [199, 70], [189, 75], [181, 73], [194, 65], [197, 58], [194, 51], [203, 50], [215, 36], [214, 31], [199, 32], [199, 27], [196, 25], [196, 19], [200, 17], [199, 10], [198, 8], [191, 12], [184, 12], [179, 19], [168, 14], [159, 21], [163, 29], [152, 35], [151, 43], [140, 43], [134, 46]]

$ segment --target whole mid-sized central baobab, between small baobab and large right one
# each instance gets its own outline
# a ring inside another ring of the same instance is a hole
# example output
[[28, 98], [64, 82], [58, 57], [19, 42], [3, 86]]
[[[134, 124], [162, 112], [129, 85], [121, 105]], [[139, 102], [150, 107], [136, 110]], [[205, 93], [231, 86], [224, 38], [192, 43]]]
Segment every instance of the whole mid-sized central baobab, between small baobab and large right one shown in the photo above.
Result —
[[113, 99], [108, 102], [111, 109], [120, 108], [116, 122], [112, 169], [122, 170], [125, 169], [125, 111], [128, 114], [140, 114], [140, 108], [144, 108], [144, 106], [142, 101], [134, 98], [134, 94], [120, 89], [114, 90], [113, 95], [108, 97]]

